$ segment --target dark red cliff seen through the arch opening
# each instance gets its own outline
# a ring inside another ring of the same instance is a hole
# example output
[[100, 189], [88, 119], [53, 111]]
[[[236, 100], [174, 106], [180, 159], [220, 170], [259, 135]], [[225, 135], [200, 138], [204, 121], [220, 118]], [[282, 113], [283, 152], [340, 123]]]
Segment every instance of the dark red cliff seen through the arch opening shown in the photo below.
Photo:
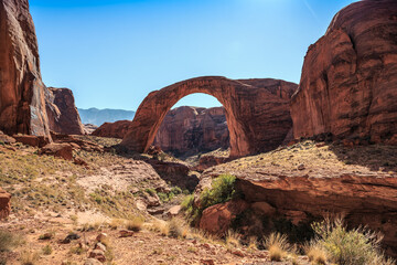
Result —
[[229, 146], [223, 107], [171, 109], [154, 138], [154, 146], [175, 156], [191, 156]]

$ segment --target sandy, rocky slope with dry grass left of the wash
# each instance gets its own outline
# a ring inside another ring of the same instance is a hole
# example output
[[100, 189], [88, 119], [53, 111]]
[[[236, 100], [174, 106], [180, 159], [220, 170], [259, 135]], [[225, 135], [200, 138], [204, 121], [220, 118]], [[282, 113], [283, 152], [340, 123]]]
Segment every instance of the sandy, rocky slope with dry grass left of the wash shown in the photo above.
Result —
[[[117, 142], [78, 138], [104, 147]], [[0, 252], [7, 264], [84, 264], [100, 233], [108, 236], [103, 253], [107, 264], [271, 264], [266, 251], [230, 245], [191, 229], [179, 239], [159, 229], [160, 221], [149, 212], [161, 209], [155, 216], [167, 219], [184, 191], [179, 193], [160, 177], [149, 155], [77, 149], [75, 159], [87, 163], [79, 166], [37, 152], [37, 147], [20, 142], [0, 145], [0, 187], [12, 194], [11, 214], [0, 227], [18, 241]], [[144, 220], [141, 231], [120, 237], [137, 216]], [[64, 242], [71, 233], [79, 239]], [[304, 264], [304, 257], [299, 258]]]

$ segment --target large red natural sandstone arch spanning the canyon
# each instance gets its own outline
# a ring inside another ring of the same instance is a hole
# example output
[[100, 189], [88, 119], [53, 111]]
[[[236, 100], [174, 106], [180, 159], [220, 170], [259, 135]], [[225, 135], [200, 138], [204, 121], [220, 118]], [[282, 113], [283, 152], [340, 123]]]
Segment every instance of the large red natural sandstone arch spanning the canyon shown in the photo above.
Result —
[[279, 146], [292, 127], [289, 99], [296, 88], [296, 84], [278, 80], [204, 76], [182, 81], [143, 99], [121, 146], [147, 151], [170, 108], [184, 96], [205, 93], [225, 107], [230, 157], [267, 151]]

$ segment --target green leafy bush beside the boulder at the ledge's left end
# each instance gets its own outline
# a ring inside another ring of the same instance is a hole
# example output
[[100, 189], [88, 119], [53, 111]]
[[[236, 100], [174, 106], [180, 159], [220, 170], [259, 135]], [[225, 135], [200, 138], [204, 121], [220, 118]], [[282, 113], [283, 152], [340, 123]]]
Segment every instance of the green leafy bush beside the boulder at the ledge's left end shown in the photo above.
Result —
[[204, 189], [200, 195], [200, 208], [202, 210], [232, 200], [235, 193], [234, 183], [236, 177], [222, 174], [214, 179], [211, 189]]

